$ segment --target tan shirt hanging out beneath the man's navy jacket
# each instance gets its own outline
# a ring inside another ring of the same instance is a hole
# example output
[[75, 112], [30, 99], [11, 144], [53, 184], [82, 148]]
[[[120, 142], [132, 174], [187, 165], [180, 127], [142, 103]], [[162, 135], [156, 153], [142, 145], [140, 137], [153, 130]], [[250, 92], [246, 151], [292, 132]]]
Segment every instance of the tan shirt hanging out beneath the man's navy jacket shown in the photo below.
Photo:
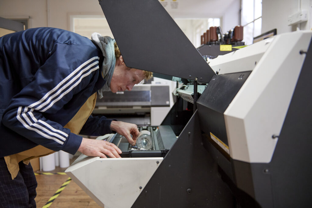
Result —
[[[88, 117], [91, 115], [95, 106], [95, 101], [96, 93], [88, 98], [88, 100], [83, 104], [83, 106], [81, 106], [76, 115], [64, 126], [64, 128], [68, 128], [72, 133], [78, 134]], [[20, 161], [23, 161], [24, 164], [28, 165], [30, 159], [50, 155], [54, 152], [55, 151], [52, 151], [44, 146], [38, 145], [32, 149], [25, 150], [14, 155], [5, 156], [4, 160], [13, 180], [18, 174], [18, 163]]]

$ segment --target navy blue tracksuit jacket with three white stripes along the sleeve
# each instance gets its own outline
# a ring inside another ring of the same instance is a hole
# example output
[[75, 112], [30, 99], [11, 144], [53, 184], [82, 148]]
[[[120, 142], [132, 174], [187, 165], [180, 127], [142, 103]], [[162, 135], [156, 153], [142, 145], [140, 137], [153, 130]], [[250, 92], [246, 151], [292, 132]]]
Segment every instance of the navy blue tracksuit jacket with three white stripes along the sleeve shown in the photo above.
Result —
[[[37, 145], [75, 154], [82, 137], [63, 128], [106, 82], [100, 49], [56, 28], [0, 37], [0, 157]], [[90, 116], [84, 135], [112, 133], [111, 120]]]

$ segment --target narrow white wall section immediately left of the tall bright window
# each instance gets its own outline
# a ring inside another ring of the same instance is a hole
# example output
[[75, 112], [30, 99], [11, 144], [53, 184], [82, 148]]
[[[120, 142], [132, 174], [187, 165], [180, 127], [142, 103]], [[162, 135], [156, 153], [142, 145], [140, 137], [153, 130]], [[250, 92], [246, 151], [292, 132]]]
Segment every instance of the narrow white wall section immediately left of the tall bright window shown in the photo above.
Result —
[[222, 32], [227, 32], [232, 27], [240, 25], [239, 22], [239, 14], [241, 8], [241, 1], [234, 0], [225, 10], [223, 17], [222, 17]]

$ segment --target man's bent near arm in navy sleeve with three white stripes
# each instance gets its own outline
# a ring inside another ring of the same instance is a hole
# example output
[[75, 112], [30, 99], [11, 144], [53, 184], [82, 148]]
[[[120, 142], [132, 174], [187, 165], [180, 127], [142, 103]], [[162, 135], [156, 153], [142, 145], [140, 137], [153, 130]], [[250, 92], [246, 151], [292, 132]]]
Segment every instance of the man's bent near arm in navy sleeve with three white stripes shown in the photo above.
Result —
[[2, 123], [38, 145], [75, 154], [82, 137], [45, 115], [58, 112], [74, 94], [86, 89], [98, 70], [97, 52], [91, 47], [83, 49], [55, 44], [32, 81], [12, 98]]

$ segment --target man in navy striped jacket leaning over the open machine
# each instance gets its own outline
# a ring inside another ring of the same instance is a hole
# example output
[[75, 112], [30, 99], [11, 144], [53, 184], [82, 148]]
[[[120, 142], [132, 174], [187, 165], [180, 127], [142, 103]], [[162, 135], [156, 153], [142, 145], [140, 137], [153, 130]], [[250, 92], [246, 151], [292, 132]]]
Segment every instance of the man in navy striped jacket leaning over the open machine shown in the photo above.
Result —
[[135, 124], [91, 112], [103, 91], [130, 91], [152, 72], [127, 67], [114, 39], [91, 39], [47, 27], [0, 37], [1, 207], [36, 206], [34, 157], [60, 150], [120, 157], [114, 144], [78, 133], [117, 132], [135, 144]]

